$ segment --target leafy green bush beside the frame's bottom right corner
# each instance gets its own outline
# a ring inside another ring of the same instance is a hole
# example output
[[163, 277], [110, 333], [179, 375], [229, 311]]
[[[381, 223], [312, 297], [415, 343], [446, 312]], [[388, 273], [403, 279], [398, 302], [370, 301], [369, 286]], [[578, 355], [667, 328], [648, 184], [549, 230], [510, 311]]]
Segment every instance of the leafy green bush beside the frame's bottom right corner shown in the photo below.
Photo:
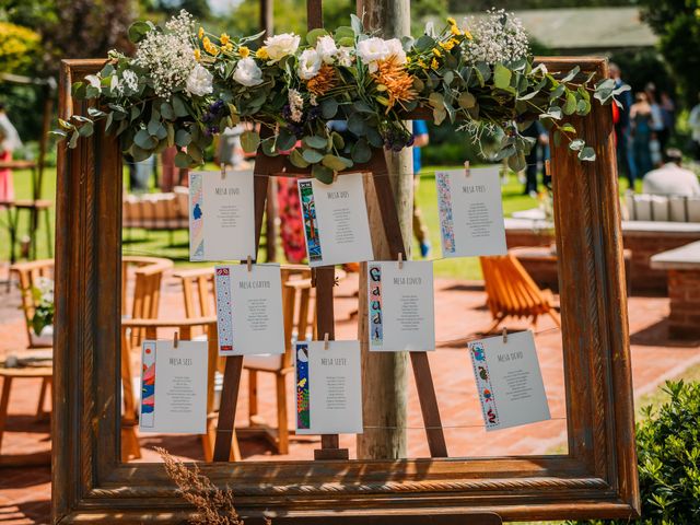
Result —
[[664, 393], [669, 400], [656, 412], [643, 409], [637, 427], [642, 517], [575, 524], [700, 523], [700, 383], [667, 382]]

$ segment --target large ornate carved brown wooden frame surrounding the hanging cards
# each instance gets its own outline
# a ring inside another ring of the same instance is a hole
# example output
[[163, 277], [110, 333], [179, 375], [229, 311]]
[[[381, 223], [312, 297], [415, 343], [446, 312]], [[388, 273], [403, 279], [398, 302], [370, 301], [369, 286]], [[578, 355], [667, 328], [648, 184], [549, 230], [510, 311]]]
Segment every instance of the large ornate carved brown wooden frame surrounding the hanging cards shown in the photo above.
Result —
[[[607, 73], [603, 59], [541, 61], [552, 72], [579, 65]], [[86, 112], [71, 98], [71, 82], [102, 63], [62, 62], [62, 117]], [[595, 104], [573, 120], [597, 160], [552, 150], [568, 454], [200, 465], [234, 490], [246, 523], [262, 523], [265, 513], [276, 525], [464, 524], [486, 511], [504, 521], [638, 515], [611, 112]], [[178, 523], [192, 512], [161, 465], [119, 458], [121, 184], [114, 137], [97, 131], [75, 149], [59, 147], [54, 523]]]

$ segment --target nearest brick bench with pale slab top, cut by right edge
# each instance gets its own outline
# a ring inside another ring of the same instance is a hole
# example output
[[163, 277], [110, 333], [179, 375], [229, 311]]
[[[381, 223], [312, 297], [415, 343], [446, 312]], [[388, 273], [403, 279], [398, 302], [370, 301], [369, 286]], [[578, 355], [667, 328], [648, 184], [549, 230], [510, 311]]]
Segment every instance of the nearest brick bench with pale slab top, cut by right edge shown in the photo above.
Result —
[[700, 241], [654, 255], [651, 266], [668, 272], [669, 335], [700, 338]]

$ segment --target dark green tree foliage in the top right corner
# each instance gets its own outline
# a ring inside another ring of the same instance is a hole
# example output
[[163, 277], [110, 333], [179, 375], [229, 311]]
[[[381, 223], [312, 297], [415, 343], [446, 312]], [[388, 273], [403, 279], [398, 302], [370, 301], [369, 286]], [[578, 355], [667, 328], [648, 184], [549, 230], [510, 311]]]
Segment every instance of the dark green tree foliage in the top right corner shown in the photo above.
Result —
[[643, 19], [660, 37], [660, 50], [670, 66], [689, 105], [700, 90], [700, 3], [698, 0], [639, 0]]

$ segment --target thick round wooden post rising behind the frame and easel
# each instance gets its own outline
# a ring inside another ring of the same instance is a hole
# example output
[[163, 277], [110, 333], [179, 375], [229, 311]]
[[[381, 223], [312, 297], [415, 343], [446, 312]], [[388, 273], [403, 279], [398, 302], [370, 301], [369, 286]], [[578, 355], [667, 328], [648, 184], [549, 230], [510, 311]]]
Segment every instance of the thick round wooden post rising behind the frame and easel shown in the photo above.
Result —
[[[366, 31], [378, 31], [384, 38], [400, 37], [410, 33], [409, 0], [358, 0], [358, 16]], [[412, 240], [413, 179], [410, 149], [388, 153], [389, 179], [394, 189], [401, 234], [404, 258], [410, 257]], [[383, 234], [382, 217], [376, 194], [365, 178], [365, 194], [373, 232], [374, 257], [388, 260], [392, 254]], [[382, 232], [382, 233], [381, 233]], [[360, 272], [360, 312], [358, 338], [362, 346], [362, 386], [364, 433], [358, 435], [358, 457], [369, 459], [395, 459], [406, 457], [407, 366], [406, 352], [369, 351], [366, 264]]]

